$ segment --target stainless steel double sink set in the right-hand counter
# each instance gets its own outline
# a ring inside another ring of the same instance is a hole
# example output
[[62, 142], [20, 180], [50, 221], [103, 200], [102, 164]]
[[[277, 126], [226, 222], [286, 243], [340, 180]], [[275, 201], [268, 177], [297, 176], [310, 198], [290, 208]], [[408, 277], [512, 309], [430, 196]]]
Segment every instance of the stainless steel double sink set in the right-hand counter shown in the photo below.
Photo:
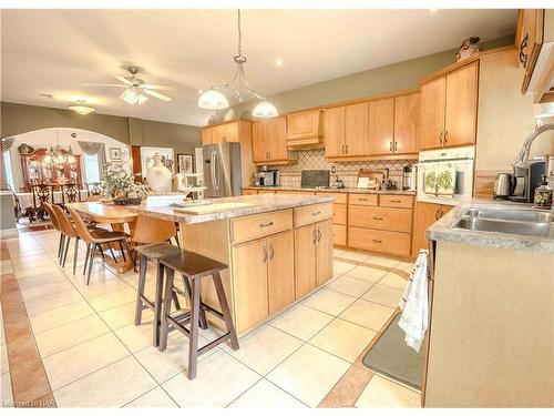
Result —
[[469, 207], [452, 227], [554, 239], [554, 213], [532, 209]]

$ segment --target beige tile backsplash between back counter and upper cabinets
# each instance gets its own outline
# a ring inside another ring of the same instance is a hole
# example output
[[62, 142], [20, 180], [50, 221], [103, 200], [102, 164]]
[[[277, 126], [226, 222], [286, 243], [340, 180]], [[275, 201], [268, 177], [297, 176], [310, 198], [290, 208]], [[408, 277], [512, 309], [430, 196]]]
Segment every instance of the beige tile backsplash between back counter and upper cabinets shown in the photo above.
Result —
[[355, 187], [357, 174], [360, 169], [388, 169], [389, 177], [397, 181], [399, 185], [402, 182], [402, 168], [416, 160], [396, 160], [396, 161], [366, 161], [366, 162], [332, 162], [325, 158], [325, 150], [302, 150], [298, 152], [298, 162], [283, 166], [275, 166], [280, 171], [281, 186], [300, 186], [300, 173], [302, 170], [337, 169], [336, 174], [330, 175], [331, 184], [335, 176], [341, 179], [347, 187]]

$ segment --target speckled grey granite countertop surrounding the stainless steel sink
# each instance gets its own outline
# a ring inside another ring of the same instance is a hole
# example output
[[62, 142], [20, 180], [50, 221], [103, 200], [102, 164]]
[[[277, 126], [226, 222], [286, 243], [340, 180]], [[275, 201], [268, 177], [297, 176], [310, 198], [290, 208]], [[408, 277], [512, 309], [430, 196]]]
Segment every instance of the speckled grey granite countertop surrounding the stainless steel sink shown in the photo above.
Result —
[[491, 200], [474, 199], [471, 202], [461, 203], [447, 215], [431, 225], [425, 235], [429, 240], [447, 241], [450, 243], [461, 243], [469, 245], [490, 246], [497, 248], [525, 250], [535, 253], [554, 253], [554, 239], [541, 237], [523, 234], [506, 234], [488, 231], [472, 231], [453, 227], [453, 224], [461, 219], [462, 213], [469, 207], [483, 207], [489, 210], [506, 209], [532, 209], [532, 204], [516, 202], [501, 202]]

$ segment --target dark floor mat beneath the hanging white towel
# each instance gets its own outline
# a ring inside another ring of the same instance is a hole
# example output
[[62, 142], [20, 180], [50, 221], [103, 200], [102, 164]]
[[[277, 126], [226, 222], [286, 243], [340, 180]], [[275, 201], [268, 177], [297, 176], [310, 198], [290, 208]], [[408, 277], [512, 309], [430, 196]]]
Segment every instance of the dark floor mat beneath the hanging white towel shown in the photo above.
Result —
[[404, 343], [404, 332], [398, 326], [399, 313], [363, 357], [363, 365], [386, 377], [421, 389], [423, 351], [416, 353]]

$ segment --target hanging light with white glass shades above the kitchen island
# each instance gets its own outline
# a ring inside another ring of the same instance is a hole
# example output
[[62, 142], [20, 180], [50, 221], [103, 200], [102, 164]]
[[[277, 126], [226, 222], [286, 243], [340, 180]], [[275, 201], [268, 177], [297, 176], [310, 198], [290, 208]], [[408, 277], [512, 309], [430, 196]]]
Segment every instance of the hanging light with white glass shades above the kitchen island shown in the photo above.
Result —
[[227, 109], [229, 106], [229, 102], [225, 97], [225, 93], [230, 93], [238, 100], [239, 103], [245, 102], [248, 99], [261, 100], [261, 102], [256, 104], [252, 112], [254, 116], [264, 119], [277, 116], [278, 111], [275, 105], [267, 101], [265, 97], [254, 91], [246, 79], [246, 72], [244, 69], [246, 57], [243, 54], [242, 49], [243, 33], [240, 28], [240, 9], [238, 9], [237, 18], [238, 54], [233, 58], [237, 64], [235, 75], [230, 82], [225, 84], [223, 88], [212, 87], [209, 90], [202, 92], [198, 98], [198, 106], [207, 110]]

